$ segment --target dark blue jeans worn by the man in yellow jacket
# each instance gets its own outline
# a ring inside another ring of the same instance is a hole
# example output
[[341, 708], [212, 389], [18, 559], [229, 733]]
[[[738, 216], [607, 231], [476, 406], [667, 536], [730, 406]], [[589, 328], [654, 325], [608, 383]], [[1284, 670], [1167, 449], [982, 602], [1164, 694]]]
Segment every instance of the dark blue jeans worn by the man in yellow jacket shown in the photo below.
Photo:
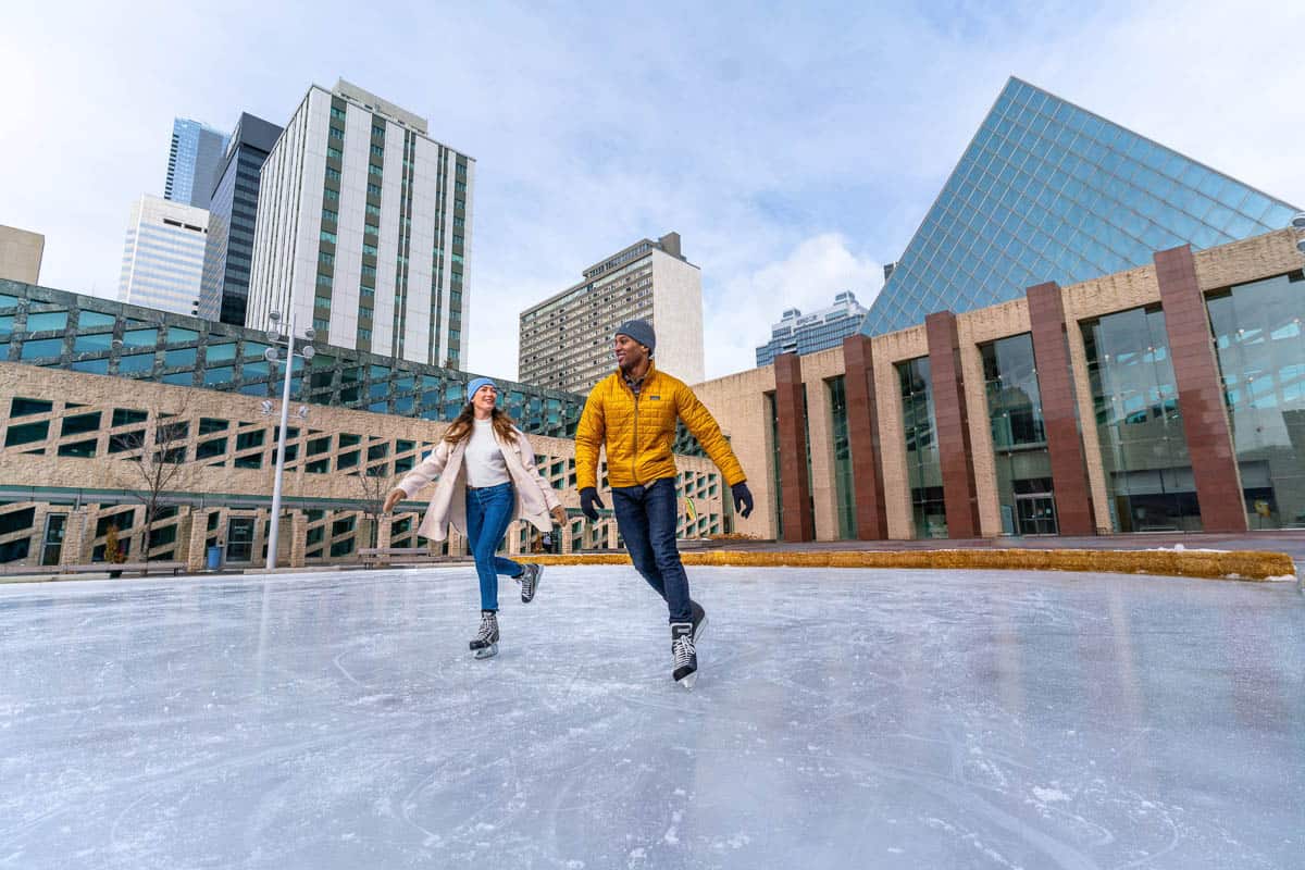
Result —
[[675, 545], [675, 477], [649, 487], [612, 487], [612, 511], [634, 570], [666, 599], [671, 622], [692, 622], [689, 578]]

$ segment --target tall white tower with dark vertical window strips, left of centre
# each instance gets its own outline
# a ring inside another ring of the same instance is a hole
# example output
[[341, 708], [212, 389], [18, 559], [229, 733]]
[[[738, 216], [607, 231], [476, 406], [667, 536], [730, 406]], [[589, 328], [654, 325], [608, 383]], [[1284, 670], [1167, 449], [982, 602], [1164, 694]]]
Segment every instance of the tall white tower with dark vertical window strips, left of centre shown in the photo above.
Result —
[[313, 85], [262, 166], [245, 323], [292, 307], [335, 347], [461, 368], [474, 185], [424, 117]]

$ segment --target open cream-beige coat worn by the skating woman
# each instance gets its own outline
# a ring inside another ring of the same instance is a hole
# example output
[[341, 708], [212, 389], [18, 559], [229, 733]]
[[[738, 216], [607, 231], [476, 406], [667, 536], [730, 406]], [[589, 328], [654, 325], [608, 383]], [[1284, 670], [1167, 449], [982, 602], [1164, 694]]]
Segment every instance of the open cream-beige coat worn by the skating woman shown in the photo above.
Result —
[[[525, 519], [542, 532], [552, 531], [553, 520], [548, 511], [561, 502], [553, 488], [535, 470], [535, 451], [530, 446], [526, 433], [521, 429], [515, 432], [517, 443], [514, 445], [504, 443], [499, 433], [495, 432], [495, 441], [502, 450], [512, 487], [517, 490], [513, 519]], [[431, 503], [425, 509], [425, 517], [416, 530], [422, 537], [442, 541], [449, 536], [450, 522], [459, 532], [467, 533], [467, 471], [462, 458], [468, 442], [470, 437], [463, 438], [457, 445], [440, 441], [440, 445], [422, 460], [422, 464], [399, 481], [398, 488], [411, 498], [419, 489], [437, 479], [435, 492], [431, 493]], [[457, 471], [455, 473], [444, 473], [446, 470]]]

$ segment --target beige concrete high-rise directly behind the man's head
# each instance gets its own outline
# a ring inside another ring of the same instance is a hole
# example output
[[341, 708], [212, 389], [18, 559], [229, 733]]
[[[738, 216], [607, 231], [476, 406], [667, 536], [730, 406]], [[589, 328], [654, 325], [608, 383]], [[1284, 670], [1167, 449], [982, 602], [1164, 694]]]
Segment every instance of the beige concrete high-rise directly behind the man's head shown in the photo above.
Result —
[[685, 383], [703, 378], [702, 270], [680, 252], [680, 233], [637, 241], [583, 274], [521, 313], [519, 380], [589, 393], [611, 373], [612, 334], [632, 318], [652, 323], [663, 370]]

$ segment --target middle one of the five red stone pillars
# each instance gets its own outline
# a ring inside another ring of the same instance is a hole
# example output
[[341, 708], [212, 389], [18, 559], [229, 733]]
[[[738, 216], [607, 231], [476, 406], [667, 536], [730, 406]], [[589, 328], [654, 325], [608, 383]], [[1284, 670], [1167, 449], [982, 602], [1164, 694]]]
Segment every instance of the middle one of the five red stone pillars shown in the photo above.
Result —
[[929, 340], [929, 378], [937, 420], [938, 457], [942, 464], [942, 498], [947, 537], [979, 535], [979, 498], [970, 454], [970, 419], [966, 415], [964, 377], [960, 374], [960, 342], [957, 316], [936, 312], [924, 318]]

